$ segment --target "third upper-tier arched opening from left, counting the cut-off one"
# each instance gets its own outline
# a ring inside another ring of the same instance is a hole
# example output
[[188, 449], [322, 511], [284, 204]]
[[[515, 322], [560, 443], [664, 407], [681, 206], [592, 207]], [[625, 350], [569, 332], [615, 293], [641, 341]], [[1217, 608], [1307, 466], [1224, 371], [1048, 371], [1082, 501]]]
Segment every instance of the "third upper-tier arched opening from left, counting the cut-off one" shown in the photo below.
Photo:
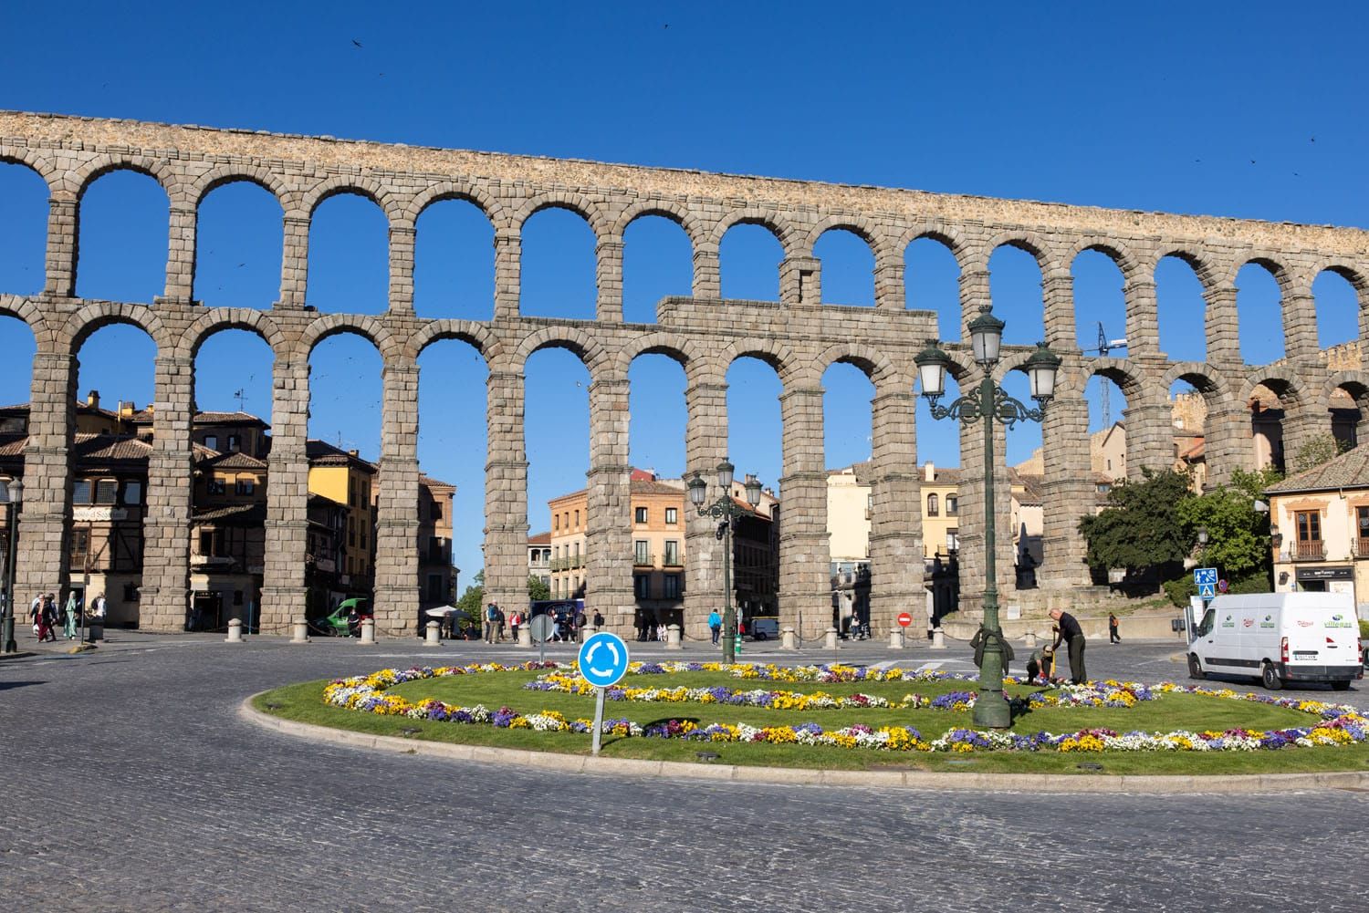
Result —
[[194, 298], [211, 307], [270, 308], [281, 294], [281, 203], [266, 188], [234, 181], [200, 201]]

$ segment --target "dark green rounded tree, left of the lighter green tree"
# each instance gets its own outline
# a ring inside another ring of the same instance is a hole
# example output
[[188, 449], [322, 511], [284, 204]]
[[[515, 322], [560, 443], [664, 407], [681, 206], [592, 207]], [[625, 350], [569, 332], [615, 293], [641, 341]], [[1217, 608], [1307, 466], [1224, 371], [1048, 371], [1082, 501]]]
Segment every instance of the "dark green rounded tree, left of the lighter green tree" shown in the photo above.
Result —
[[1140, 482], [1118, 482], [1101, 513], [1079, 520], [1091, 567], [1127, 568], [1134, 575], [1177, 564], [1188, 554], [1190, 539], [1177, 511], [1188, 496], [1188, 476], [1173, 471], [1143, 472]]

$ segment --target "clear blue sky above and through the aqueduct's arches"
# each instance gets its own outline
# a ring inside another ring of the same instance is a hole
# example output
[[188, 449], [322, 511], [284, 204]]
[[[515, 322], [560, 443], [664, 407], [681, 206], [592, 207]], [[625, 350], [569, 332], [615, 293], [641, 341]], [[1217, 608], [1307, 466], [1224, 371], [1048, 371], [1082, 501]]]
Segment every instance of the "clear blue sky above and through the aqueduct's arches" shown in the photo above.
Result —
[[[1366, 226], [1366, 81], [1362, 4], [41, 4], [0, 10], [0, 107], [305, 134], [333, 134], [609, 162], [878, 183], [1138, 209]], [[85, 8], [79, 8], [85, 7]], [[160, 7], [160, 8], [157, 8]], [[360, 42], [356, 47], [353, 41]], [[22, 168], [0, 166], [0, 292], [41, 285], [45, 200]], [[524, 244], [524, 311], [593, 313], [593, 237], [545, 212]], [[869, 304], [867, 250], [828, 235], [830, 301]], [[162, 289], [166, 201], [149, 181], [115, 174], [82, 211], [79, 293], [148, 301]], [[652, 319], [689, 290], [689, 246], [646, 220], [627, 238], [628, 319]], [[201, 212], [197, 296], [266, 307], [279, 282], [279, 211], [235, 185]], [[779, 246], [739, 227], [723, 246], [723, 290], [773, 298]], [[487, 316], [490, 229], [461, 204], [419, 224], [418, 309]], [[908, 256], [909, 305], [936, 309], [956, 335], [956, 271], [931, 242]], [[1040, 335], [1031, 259], [991, 263], [1008, 339]], [[1075, 264], [1080, 339], [1101, 320], [1124, 331], [1110, 263]], [[1191, 272], [1158, 274], [1161, 345], [1201, 359], [1202, 303]], [[1281, 355], [1273, 282], [1240, 275], [1246, 359]], [[322, 311], [385, 307], [385, 222], [334, 198], [314, 227], [309, 296]], [[1316, 286], [1322, 344], [1354, 338], [1353, 296]], [[0, 319], [0, 400], [29, 397], [33, 339]], [[111, 327], [81, 352], [79, 389], [105, 401], [152, 398], [151, 341]], [[311, 434], [378, 456], [379, 356], [350, 337], [314, 360]], [[459, 486], [456, 560], [481, 565], [485, 370], [460, 344], [422, 360], [419, 456]], [[268, 416], [271, 357], [242, 333], [211, 339], [197, 363], [201, 408]], [[679, 475], [683, 375], [661, 357], [632, 381], [631, 457]], [[734, 365], [731, 450], [739, 471], [780, 472], [779, 383]], [[827, 382], [827, 463], [869, 456], [869, 383], [836, 365]], [[583, 486], [587, 372], [564, 352], [527, 371], [530, 522], [546, 500]], [[1103, 422], [1091, 387], [1092, 423]], [[1019, 391], [1020, 393], [1020, 391]], [[1113, 390], [1112, 413], [1124, 408]], [[958, 463], [954, 428], [920, 412], [919, 459]], [[1010, 459], [1039, 431], [1010, 435]]]

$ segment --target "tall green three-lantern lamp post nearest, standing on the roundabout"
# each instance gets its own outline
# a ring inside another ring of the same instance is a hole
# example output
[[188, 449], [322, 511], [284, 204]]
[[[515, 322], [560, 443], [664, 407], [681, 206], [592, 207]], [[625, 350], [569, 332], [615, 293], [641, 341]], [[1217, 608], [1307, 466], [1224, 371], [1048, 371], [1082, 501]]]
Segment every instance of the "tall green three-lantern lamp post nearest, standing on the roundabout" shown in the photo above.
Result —
[[994, 383], [994, 365], [1003, 339], [1003, 322], [991, 312], [991, 305], [980, 307], [979, 316], [969, 322], [971, 348], [975, 361], [983, 370], [984, 378], [979, 390], [962, 396], [947, 407], [936, 405], [946, 393], [946, 368], [950, 356], [936, 346], [935, 339], [913, 359], [923, 385], [923, 396], [931, 404], [934, 419], [960, 419], [969, 426], [984, 422], [984, 620], [976, 641], [983, 647], [983, 661], [979, 667], [979, 695], [975, 699], [975, 725], [1005, 730], [1012, 725], [1012, 709], [1003, 699], [1003, 654], [1008, 642], [998, 624], [998, 583], [994, 560], [994, 422], [1013, 427], [1023, 419], [1040, 422], [1046, 402], [1055, 393], [1055, 374], [1060, 371], [1060, 356], [1038, 344], [1036, 350], [1023, 365], [1031, 387], [1036, 409], [1028, 409]]

